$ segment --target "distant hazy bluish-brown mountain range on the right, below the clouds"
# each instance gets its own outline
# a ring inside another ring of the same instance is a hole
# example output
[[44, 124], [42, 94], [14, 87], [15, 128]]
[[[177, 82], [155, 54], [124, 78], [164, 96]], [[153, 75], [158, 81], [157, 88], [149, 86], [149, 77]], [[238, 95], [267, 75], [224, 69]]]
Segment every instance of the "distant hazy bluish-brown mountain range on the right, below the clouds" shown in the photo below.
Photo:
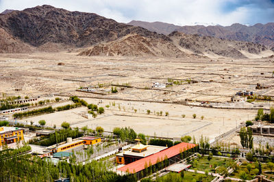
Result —
[[265, 25], [260, 23], [253, 26], [241, 25], [235, 23], [231, 26], [223, 27], [216, 26], [177, 26], [165, 22], [142, 22], [132, 21], [128, 25], [144, 27], [150, 31], [163, 33], [168, 35], [173, 31], [180, 31], [186, 34], [197, 34], [203, 36], [212, 36], [227, 40], [253, 42], [257, 44], [264, 44], [265, 46], [274, 47], [274, 22], [269, 22]]

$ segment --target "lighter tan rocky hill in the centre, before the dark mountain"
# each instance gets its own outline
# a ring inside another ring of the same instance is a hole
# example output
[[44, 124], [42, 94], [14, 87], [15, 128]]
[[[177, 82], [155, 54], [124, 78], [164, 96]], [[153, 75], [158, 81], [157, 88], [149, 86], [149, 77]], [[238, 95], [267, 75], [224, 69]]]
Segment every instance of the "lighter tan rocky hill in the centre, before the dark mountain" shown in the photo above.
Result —
[[172, 42], [143, 37], [136, 33], [126, 35], [119, 40], [87, 48], [79, 55], [88, 56], [134, 56], [134, 57], [186, 57]]

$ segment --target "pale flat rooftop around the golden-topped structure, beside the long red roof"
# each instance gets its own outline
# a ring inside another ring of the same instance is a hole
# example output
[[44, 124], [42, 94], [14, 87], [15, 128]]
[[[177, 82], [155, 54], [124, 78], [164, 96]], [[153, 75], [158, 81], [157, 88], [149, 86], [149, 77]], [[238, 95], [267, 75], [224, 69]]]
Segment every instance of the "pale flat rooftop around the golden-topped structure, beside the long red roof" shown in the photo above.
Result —
[[118, 153], [117, 156], [136, 156], [136, 157], [147, 157], [149, 155], [152, 155], [154, 153], [158, 153], [164, 149], [167, 149], [167, 147], [162, 146], [155, 146], [155, 145], [147, 145], [147, 150], [143, 152], [134, 152], [132, 149], [129, 149], [128, 151], [123, 151], [121, 153]]

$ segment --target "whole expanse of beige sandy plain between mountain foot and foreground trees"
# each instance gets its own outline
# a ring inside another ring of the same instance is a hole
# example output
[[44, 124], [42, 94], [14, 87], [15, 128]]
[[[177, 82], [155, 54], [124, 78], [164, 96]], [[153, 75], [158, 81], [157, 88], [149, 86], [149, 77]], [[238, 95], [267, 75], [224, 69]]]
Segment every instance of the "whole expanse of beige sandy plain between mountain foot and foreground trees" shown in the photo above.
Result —
[[[179, 137], [184, 134], [197, 137], [203, 134], [214, 138], [252, 119], [257, 110], [224, 110], [165, 104], [156, 102], [182, 102], [186, 99], [211, 104], [221, 102], [224, 106], [249, 106], [250, 104], [230, 104], [232, 95], [240, 90], [255, 91], [257, 95], [273, 95], [270, 89], [256, 90], [256, 84], [273, 85], [273, 59], [174, 59], [157, 57], [79, 57], [77, 53], [34, 53], [0, 55], [0, 93], [8, 95], [28, 95], [29, 97], [50, 98], [63, 95], [78, 95], [88, 103], [97, 104], [102, 97], [105, 106], [116, 102], [116, 106], [106, 109], [97, 119], [86, 119], [84, 107], [54, 112], [48, 115], [29, 117], [23, 121], [45, 119], [48, 125], [61, 125], [67, 121], [73, 127], [88, 125], [93, 129], [101, 125], [105, 130], [129, 126], [136, 132], [148, 135]], [[64, 65], [58, 65], [58, 63]], [[174, 85], [163, 89], [151, 88], [153, 82], [174, 80], [197, 80], [197, 83]], [[107, 95], [75, 91], [79, 87], [103, 84], [98, 91]], [[118, 93], [108, 93], [110, 84], [127, 84], [133, 88], [118, 87]], [[15, 91], [15, 89], [22, 91]], [[123, 100], [136, 100], [128, 102]], [[150, 102], [142, 102], [150, 101]], [[69, 102], [64, 102], [66, 104]], [[55, 104], [54, 106], [62, 105]], [[121, 105], [119, 110], [118, 105]], [[219, 103], [217, 103], [219, 104]], [[273, 102], [262, 103], [265, 108]], [[125, 110], [124, 110], [125, 108]], [[137, 113], [133, 113], [137, 109]], [[146, 115], [147, 109], [151, 115]], [[169, 117], [158, 117], [155, 112], [169, 112]], [[192, 115], [196, 114], [197, 119]], [[126, 115], [126, 116], [119, 116]], [[131, 117], [127, 116], [131, 115]], [[182, 118], [186, 115], [186, 118]], [[201, 116], [204, 117], [201, 120]]]

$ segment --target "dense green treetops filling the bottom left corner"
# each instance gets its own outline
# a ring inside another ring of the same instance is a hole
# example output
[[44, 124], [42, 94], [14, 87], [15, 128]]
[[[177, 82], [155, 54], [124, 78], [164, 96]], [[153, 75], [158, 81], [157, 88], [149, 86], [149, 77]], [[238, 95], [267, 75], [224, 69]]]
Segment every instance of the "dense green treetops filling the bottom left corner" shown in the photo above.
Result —
[[137, 181], [133, 175], [122, 177], [108, 170], [105, 162], [97, 161], [84, 166], [68, 162], [59, 162], [54, 166], [47, 159], [21, 155], [0, 162], [0, 168], [0, 181], [54, 181], [60, 177], [67, 177], [70, 181]]

